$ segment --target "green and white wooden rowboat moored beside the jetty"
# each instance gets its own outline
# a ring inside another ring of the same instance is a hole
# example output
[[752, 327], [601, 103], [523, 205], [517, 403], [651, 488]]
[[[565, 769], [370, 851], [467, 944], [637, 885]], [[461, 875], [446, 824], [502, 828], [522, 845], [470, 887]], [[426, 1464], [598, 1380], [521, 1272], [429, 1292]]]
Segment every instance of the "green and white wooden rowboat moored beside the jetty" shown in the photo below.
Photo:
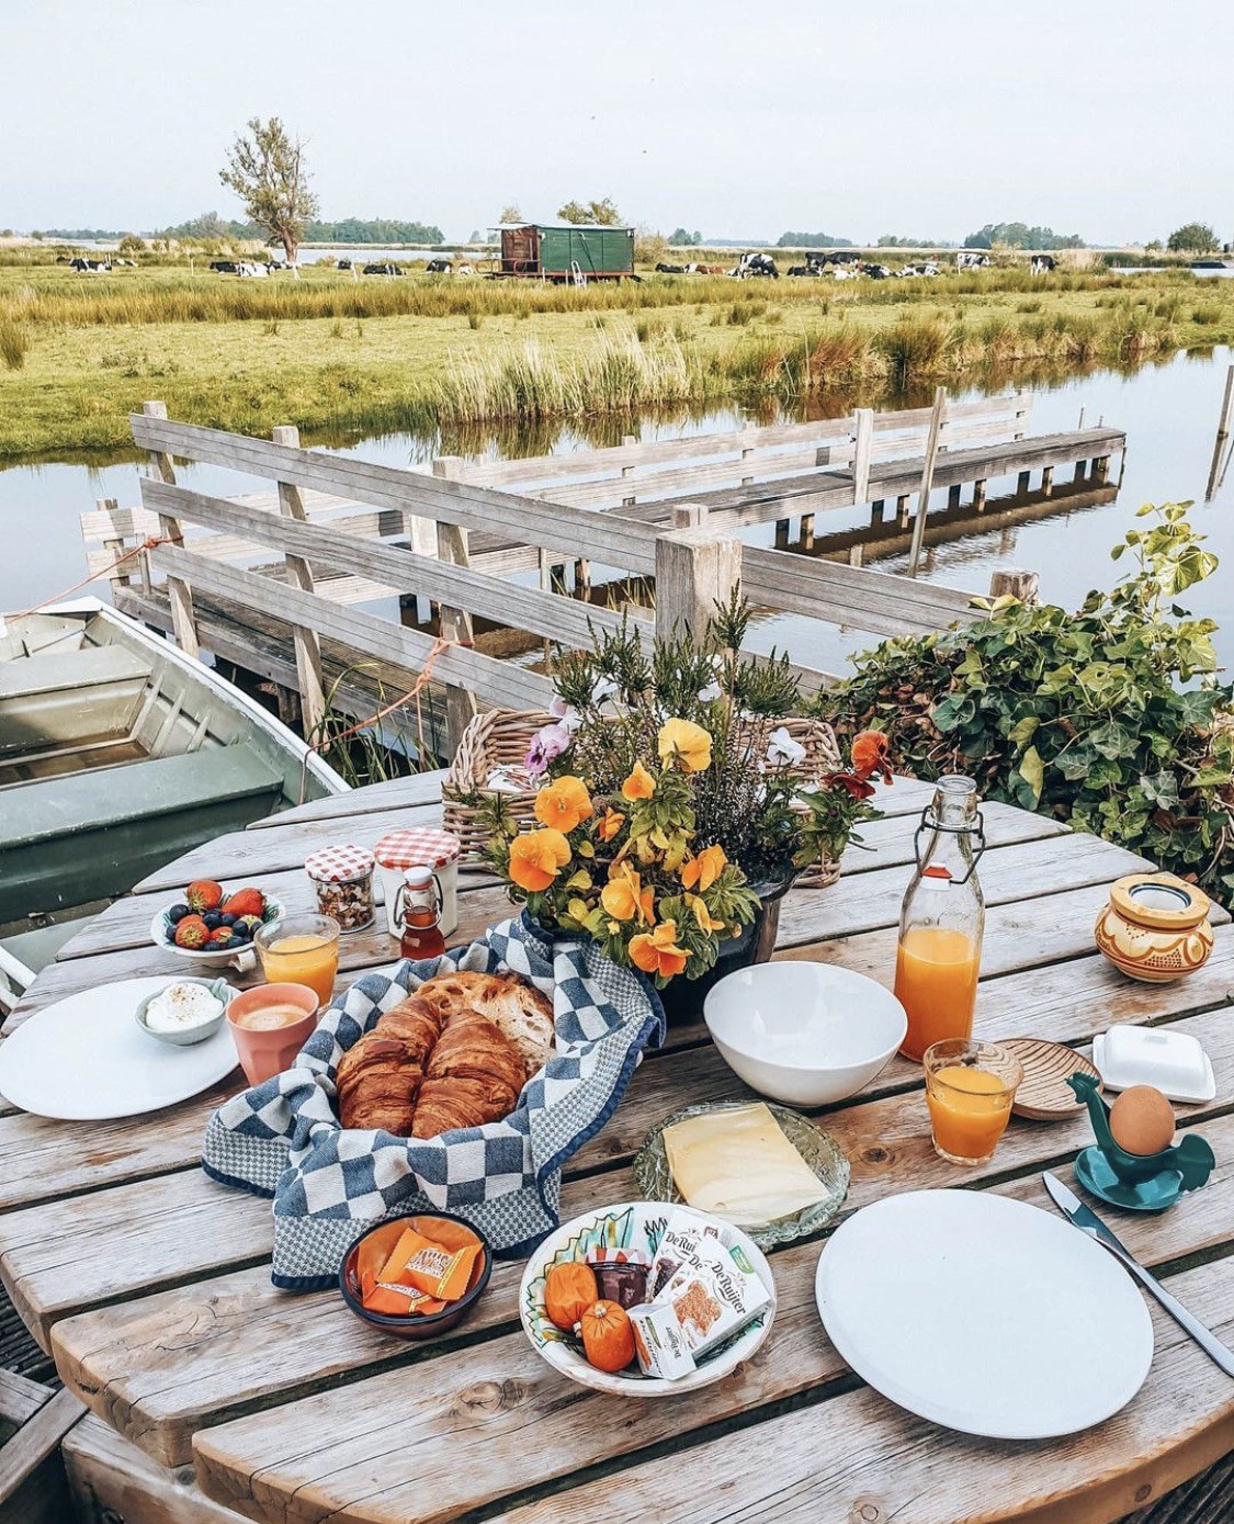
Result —
[[96, 599], [0, 622], [0, 1006], [75, 916], [346, 789], [261, 704]]

